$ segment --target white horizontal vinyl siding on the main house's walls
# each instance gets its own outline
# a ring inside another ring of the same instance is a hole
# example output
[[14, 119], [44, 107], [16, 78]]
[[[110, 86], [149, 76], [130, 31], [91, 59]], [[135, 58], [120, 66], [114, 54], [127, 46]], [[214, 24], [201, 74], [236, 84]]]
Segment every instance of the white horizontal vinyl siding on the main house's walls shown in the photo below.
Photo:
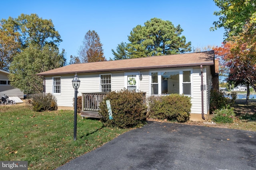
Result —
[[[208, 110], [208, 102], [209, 102], [209, 91], [210, 87], [210, 66], [203, 66], [204, 74], [204, 84], [207, 82], [206, 89], [204, 91], [204, 113], [207, 113]], [[142, 80], [137, 79], [138, 82], [138, 91], [146, 92], [146, 96], [150, 96], [151, 94], [151, 73], [152, 72], [167, 72], [167, 71], [179, 71], [180, 73], [180, 94], [182, 94], [182, 86], [183, 86], [183, 71], [190, 71], [191, 78], [191, 113], [202, 113], [201, 106], [201, 70], [200, 66], [196, 67], [188, 67], [188, 68], [180, 68], [180, 69], [158, 69], [158, 70], [134, 70], [133, 72], [137, 72], [138, 75], [142, 74]], [[112, 91], [120, 91], [124, 90], [127, 84], [127, 80], [125, 78], [125, 74], [129, 73], [126, 71], [116, 71], [116, 72], [101, 72], [101, 73], [86, 73], [86, 74], [78, 74], [78, 78], [80, 79], [80, 87], [78, 89], [78, 96], [81, 96], [82, 93], [93, 93], [100, 92], [100, 75], [101, 74], [111, 74], [111, 90]], [[158, 73], [158, 76], [161, 76]], [[55, 95], [57, 99], [58, 106], [69, 106], [73, 107], [73, 99], [74, 99], [74, 88], [72, 87], [72, 79], [74, 78], [74, 74], [66, 74], [61, 75], [61, 95]], [[45, 76], [45, 86], [46, 93], [53, 93], [52, 86], [52, 76]], [[161, 80], [161, 78], [160, 78]], [[159, 79], [158, 79], [159, 82]], [[189, 82], [186, 82], [189, 83]]]

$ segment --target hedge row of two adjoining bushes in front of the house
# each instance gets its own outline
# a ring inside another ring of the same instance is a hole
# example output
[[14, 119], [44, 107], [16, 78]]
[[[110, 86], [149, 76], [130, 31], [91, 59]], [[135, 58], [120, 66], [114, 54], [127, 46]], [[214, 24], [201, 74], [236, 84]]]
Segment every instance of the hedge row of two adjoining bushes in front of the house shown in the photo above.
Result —
[[[113, 119], [108, 115], [106, 100], [110, 100]], [[143, 125], [146, 117], [185, 122], [189, 120], [192, 105], [188, 96], [179, 94], [150, 96], [147, 104], [148, 108], [143, 93], [128, 90], [111, 92], [100, 104], [101, 121], [106, 126], [121, 128]]]

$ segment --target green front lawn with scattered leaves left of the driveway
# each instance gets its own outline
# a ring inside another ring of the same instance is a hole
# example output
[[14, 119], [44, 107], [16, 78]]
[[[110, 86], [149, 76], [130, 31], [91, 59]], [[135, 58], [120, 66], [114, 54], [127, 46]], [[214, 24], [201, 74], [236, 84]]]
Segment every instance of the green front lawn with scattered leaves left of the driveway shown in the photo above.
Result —
[[73, 111], [34, 112], [25, 106], [1, 106], [0, 159], [26, 160], [29, 169], [54, 169], [125, 131], [78, 116], [74, 141]]

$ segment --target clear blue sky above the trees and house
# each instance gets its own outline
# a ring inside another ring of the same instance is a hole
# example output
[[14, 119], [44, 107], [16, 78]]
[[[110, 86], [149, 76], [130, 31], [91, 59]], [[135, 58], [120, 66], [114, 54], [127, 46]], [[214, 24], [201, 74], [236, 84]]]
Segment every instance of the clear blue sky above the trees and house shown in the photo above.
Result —
[[20, 14], [38, 14], [42, 19], [51, 19], [60, 33], [60, 49], [65, 49], [66, 58], [78, 55], [84, 35], [94, 30], [100, 36], [106, 59], [114, 58], [122, 41], [128, 43], [128, 35], [136, 25], [144, 25], [151, 18], [180, 24], [182, 35], [191, 41], [192, 47], [220, 46], [224, 29], [210, 31], [218, 17], [219, 9], [213, 0], [5, 0], [1, 1], [0, 19]]

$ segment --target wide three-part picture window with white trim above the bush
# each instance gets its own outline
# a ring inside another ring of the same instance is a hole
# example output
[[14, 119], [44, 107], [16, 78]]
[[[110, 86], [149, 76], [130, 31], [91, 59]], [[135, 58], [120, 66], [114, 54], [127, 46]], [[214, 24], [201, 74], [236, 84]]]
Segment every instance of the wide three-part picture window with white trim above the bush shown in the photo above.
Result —
[[191, 96], [191, 70], [150, 72], [151, 95], [184, 94]]

